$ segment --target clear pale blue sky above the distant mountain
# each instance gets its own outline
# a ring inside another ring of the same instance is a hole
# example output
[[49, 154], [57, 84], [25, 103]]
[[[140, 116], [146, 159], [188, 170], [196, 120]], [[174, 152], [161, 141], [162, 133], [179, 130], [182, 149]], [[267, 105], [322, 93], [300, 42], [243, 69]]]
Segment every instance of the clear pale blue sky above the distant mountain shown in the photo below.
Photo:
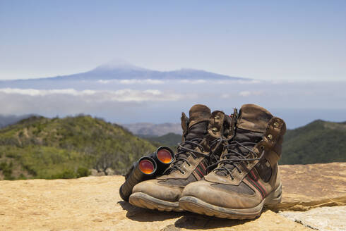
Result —
[[0, 79], [113, 58], [263, 80], [345, 80], [346, 1], [0, 0]]

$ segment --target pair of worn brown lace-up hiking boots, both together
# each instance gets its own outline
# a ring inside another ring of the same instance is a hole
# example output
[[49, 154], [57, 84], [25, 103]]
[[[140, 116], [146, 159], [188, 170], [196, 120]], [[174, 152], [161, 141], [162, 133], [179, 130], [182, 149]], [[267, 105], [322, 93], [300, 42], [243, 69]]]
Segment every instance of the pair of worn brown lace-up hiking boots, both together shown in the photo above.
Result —
[[250, 219], [264, 205], [278, 204], [278, 171], [285, 122], [260, 106], [239, 114], [210, 112], [197, 104], [181, 116], [182, 143], [165, 173], [133, 188], [129, 202], [160, 211], [191, 211]]

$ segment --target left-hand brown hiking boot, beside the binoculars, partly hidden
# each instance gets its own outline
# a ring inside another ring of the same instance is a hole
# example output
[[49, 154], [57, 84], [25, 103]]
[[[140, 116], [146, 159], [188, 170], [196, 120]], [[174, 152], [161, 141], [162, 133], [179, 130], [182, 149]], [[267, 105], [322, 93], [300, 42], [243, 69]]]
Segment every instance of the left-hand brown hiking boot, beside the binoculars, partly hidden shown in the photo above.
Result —
[[129, 202], [142, 208], [160, 211], [182, 211], [179, 198], [184, 187], [207, 174], [210, 164], [220, 160], [227, 141], [231, 119], [221, 111], [210, 113], [207, 106], [197, 104], [189, 111], [190, 118], [181, 116], [182, 143], [176, 159], [164, 175], [133, 187]]

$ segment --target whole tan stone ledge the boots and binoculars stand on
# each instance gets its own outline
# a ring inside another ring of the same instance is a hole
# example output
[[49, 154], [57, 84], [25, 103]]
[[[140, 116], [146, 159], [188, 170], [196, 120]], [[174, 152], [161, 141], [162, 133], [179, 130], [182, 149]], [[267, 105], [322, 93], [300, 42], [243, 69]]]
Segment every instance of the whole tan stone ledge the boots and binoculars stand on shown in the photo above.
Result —
[[346, 163], [280, 166], [282, 203], [255, 220], [136, 208], [122, 176], [0, 181], [0, 230], [346, 230]]

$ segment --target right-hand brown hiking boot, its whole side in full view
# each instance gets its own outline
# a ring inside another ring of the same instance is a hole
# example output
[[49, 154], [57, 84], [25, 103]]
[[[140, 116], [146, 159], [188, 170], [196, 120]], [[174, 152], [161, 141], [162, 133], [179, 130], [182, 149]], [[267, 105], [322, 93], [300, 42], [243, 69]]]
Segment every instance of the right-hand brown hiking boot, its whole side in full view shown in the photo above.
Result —
[[246, 104], [236, 127], [217, 168], [185, 187], [181, 208], [219, 218], [251, 219], [260, 216], [264, 205], [280, 202], [278, 160], [285, 122], [260, 106]]

